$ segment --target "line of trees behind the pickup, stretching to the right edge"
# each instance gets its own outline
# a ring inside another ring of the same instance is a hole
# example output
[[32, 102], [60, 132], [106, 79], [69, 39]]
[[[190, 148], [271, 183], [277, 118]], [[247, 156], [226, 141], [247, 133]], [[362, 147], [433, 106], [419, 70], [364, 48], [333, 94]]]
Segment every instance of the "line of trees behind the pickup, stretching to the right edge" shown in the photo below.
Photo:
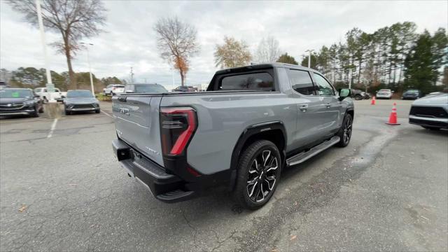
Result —
[[[251, 62], [297, 64], [287, 52], [279, 54], [279, 43], [272, 36], [262, 38], [253, 53], [245, 41], [225, 36], [223, 44], [216, 45], [214, 57], [216, 66], [221, 68]], [[398, 22], [371, 34], [353, 28], [346, 32], [344, 41], [302, 55], [300, 64], [308, 66], [310, 57], [310, 67], [321, 71], [338, 87], [351, 83], [371, 91], [384, 87], [398, 91], [418, 88], [427, 93], [443, 88], [436, 86], [442, 75], [446, 87], [447, 54], [448, 36], [444, 28], [434, 34], [426, 30], [417, 34], [413, 22]]]

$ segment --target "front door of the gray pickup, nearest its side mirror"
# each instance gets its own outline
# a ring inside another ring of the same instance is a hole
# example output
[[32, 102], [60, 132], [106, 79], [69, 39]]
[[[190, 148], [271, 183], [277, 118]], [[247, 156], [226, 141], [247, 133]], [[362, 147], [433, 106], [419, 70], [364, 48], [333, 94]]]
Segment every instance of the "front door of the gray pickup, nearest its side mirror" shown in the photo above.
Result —
[[337, 99], [335, 88], [330, 82], [318, 73], [311, 73], [316, 87], [316, 94], [321, 101], [318, 111], [319, 126], [318, 134], [325, 137], [339, 130], [341, 120], [342, 105]]

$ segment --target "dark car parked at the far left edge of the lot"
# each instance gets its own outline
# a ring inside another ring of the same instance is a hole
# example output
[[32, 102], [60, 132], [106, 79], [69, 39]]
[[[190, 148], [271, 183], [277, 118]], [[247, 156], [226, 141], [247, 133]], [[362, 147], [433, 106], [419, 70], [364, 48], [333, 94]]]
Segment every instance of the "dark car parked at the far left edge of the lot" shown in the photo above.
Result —
[[29, 88], [3, 88], [0, 90], [0, 116], [29, 115], [38, 117], [43, 113], [43, 102]]

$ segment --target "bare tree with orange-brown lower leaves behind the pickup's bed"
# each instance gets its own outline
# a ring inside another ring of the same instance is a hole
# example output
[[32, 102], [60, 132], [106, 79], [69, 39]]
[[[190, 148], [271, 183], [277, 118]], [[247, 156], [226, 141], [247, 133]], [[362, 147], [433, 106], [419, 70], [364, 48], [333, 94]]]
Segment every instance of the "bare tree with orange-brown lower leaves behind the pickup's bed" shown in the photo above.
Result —
[[188, 72], [188, 59], [199, 52], [195, 27], [175, 18], [160, 18], [154, 26], [158, 33], [158, 49], [162, 59], [174, 57], [174, 68], [181, 74], [182, 85]]

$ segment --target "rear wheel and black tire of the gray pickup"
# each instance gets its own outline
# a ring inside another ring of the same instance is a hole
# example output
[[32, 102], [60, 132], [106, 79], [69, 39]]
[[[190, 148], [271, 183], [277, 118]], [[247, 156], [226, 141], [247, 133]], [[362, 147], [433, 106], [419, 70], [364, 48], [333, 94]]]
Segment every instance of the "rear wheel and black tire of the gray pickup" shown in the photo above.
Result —
[[[271, 141], [255, 141], [242, 152], [233, 192], [241, 207], [255, 210], [269, 201], [279, 183], [282, 164], [279, 149]], [[276, 168], [272, 169], [274, 167]], [[251, 185], [249, 181], [253, 181]]]

